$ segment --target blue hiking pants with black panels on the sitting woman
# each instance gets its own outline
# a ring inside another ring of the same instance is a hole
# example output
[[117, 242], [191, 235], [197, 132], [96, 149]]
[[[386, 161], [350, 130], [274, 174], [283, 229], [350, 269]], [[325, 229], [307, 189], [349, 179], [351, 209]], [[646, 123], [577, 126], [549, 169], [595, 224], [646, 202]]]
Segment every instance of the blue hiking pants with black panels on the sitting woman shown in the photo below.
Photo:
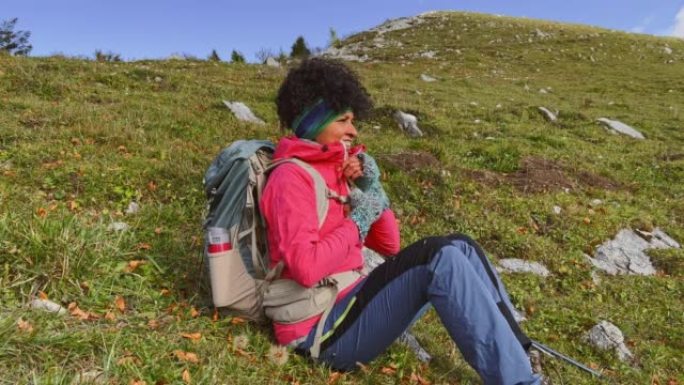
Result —
[[[501, 281], [464, 235], [425, 238], [373, 270], [331, 311], [319, 360], [345, 371], [370, 362], [428, 303], [486, 385], [540, 383]], [[315, 329], [298, 352], [310, 348]]]

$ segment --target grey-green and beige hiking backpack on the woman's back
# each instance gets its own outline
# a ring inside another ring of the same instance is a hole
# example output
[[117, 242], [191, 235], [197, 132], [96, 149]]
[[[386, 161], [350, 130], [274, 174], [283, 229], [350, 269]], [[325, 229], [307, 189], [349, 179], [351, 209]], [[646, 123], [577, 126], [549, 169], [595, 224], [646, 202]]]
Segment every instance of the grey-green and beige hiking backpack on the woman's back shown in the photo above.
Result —
[[[219, 153], [204, 175], [207, 215], [203, 264], [206, 269], [202, 273], [208, 273], [211, 278], [212, 302], [217, 308], [257, 321], [265, 320], [262, 305], [266, 283], [278, 278], [282, 269], [282, 265], [268, 268], [266, 229], [259, 212], [259, 200], [269, 171], [283, 163], [293, 163], [309, 173], [316, 191], [319, 227], [328, 212], [328, 199], [337, 196], [328, 189], [320, 173], [306, 162], [295, 158], [273, 162], [274, 149], [270, 141], [238, 140]], [[212, 267], [210, 259], [211, 237], [216, 231], [225, 234], [230, 247], [227, 265], [219, 266], [220, 272], [212, 271], [217, 269]], [[206, 283], [206, 278], [200, 281]]]

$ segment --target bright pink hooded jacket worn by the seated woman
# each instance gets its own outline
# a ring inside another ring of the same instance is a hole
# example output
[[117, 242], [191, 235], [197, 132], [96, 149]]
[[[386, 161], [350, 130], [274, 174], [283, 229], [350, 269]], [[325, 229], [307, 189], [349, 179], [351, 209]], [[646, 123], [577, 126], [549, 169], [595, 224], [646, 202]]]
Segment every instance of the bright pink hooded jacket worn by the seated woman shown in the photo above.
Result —
[[[363, 147], [357, 146], [349, 155], [361, 151]], [[323, 176], [328, 188], [348, 195], [342, 172], [345, 149], [341, 143], [320, 145], [294, 136], [284, 137], [274, 154], [274, 159], [282, 158], [299, 158], [309, 163]], [[363, 267], [363, 245], [356, 224], [345, 215], [344, 205], [335, 199], [330, 199], [329, 204], [328, 215], [319, 230], [314, 184], [309, 174], [295, 164], [285, 163], [269, 176], [260, 206], [267, 225], [271, 267], [283, 260], [283, 278], [311, 287], [331, 274]], [[382, 255], [399, 251], [399, 229], [390, 209], [371, 226], [365, 246]], [[339, 293], [338, 300], [350, 289]], [[296, 324], [274, 323], [276, 339], [286, 345], [307, 335], [319, 319], [315, 316]]]

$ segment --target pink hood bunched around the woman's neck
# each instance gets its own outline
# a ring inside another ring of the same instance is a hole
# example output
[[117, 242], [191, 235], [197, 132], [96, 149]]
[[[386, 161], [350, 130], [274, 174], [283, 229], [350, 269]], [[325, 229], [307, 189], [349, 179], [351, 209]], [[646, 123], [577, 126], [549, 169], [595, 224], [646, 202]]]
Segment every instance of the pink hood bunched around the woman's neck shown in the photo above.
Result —
[[357, 145], [345, 150], [341, 142], [320, 144], [312, 140], [300, 139], [294, 135], [280, 139], [276, 146], [273, 159], [298, 158], [307, 163], [342, 163], [347, 156], [365, 152], [364, 145]]

